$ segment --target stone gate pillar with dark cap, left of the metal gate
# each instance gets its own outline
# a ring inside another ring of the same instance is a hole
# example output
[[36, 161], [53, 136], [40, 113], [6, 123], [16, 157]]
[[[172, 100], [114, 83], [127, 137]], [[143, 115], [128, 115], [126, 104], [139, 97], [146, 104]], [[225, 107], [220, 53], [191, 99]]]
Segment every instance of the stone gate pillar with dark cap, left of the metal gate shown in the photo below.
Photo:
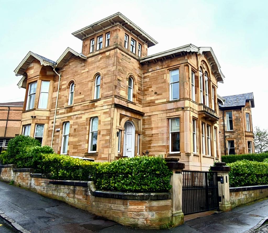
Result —
[[178, 162], [178, 158], [165, 158], [167, 166], [172, 170], [170, 177], [171, 205], [172, 216], [171, 221], [173, 226], [182, 225], [184, 223], [184, 214], [182, 212], [182, 175], [181, 171], [185, 168], [184, 163]]

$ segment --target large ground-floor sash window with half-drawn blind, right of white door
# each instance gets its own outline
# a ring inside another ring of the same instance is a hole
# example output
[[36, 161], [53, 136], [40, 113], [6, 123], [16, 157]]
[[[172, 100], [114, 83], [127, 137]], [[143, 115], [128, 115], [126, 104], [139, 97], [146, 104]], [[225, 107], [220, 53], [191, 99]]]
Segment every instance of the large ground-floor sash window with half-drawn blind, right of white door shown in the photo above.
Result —
[[180, 152], [180, 118], [169, 119], [169, 152]]

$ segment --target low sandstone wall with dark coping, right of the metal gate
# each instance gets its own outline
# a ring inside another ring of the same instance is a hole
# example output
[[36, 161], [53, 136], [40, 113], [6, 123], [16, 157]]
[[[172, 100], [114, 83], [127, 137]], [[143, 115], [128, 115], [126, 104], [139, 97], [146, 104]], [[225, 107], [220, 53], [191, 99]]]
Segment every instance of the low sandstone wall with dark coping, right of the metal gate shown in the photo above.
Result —
[[232, 208], [268, 197], [268, 185], [230, 188]]

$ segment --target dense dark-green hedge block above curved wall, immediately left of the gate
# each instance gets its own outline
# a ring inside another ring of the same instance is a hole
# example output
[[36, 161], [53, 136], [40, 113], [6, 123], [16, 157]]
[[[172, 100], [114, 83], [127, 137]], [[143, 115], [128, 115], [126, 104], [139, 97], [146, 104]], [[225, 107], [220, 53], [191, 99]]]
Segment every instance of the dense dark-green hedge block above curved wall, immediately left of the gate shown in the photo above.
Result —
[[101, 190], [168, 191], [171, 174], [163, 158], [138, 156], [100, 163], [95, 185]]

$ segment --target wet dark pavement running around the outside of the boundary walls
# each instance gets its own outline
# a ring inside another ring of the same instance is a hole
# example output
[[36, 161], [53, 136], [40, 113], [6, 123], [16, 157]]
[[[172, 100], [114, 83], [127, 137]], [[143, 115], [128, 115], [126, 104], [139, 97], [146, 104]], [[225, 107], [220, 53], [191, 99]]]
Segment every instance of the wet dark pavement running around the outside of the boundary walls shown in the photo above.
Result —
[[268, 217], [268, 200], [189, 220], [176, 228], [136, 230], [0, 181], [0, 209], [33, 233], [243, 233]]

